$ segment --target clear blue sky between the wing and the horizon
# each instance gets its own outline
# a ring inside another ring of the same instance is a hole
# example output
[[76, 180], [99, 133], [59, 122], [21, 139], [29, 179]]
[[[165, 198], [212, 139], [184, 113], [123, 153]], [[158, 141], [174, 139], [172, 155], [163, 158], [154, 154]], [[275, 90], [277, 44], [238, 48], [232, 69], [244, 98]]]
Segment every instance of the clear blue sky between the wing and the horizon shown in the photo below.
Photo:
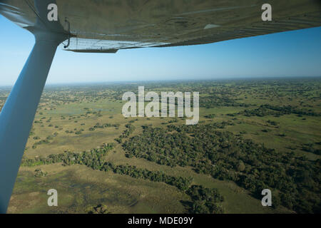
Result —
[[[34, 37], [0, 15], [0, 86], [13, 85]], [[198, 46], [72, 53], [61, 46], [47, 84], [321, 76], [321, 27]]]

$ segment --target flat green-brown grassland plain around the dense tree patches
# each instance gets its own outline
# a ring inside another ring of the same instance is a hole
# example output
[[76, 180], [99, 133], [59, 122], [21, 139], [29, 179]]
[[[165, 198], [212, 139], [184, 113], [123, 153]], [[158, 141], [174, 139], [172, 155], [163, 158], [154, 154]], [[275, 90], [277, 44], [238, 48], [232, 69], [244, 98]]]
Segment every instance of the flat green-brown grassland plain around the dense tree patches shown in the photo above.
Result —
[[[121, 97], [126, 91], [138, 94], [138, 86], [145, 86], [145, 93], [151, 90], [158, 93], [198, 91], [198, 125], [228, 121], [230, 124], [218, 131], [240, 135], [275, 149], [277, 153], [286, 155], [287, 152], [294, 152], [295, 156], [305, 156], [312, 162], [320, 160], [320, 78], [49, 86], [41, 97], [24, 159], [34, 160], [65, 151], [80, 153], [113, 142], [115, 147], [103, 156], [104, 161], [161, 171], [173, 177], [192, 177], [190, 185], [218, 190], [224, 198], [224, 213], [295, 213], [294, 209], [282, 204], [263, 207], [253, 192], [238, 183], [195, 172], [190, 165], [170, 167], [142, 157], [126, 156], [123, 144], [143, 135], [142, 126], [165, 129], [168, 125], [185, 125], [185, 118], [124, 118], [121, 108], [125, 101]], [[0, 89], [0, 107], [8, 93], [8, 89]], [[292, 113], [271, 114], [275, 110], [267, 109], [266, 113], [257, 115], [253, 110], [259, 108], [261, 111], [261, 105], [290, 105], [293, 110]], [[244, 115], [245, 110], [250, 114]], [[313, 115], [297, 114], [297, 110], [312, 112]], [[128, 129], [128, 123], [135, 130], [121, 143], [116, 142]], [[108, 126], [95, 128], [97, 124]], [[46, 175], [36, 176], [36, 169]], [[320, 177], [313, 178], [320, 180]], [[58, 207], [47, 205], [49, 196], [46, 192], [51, 188], [58, 190]], [[108, 213], [188, 213], [184, 202], [190, 200], [186, 192], [165, 182], [57, 162], [21, 166], [8, 212], [88, 213], [93, 206], [103, 204]], [[320, 202], [320, 198], [316, 201]]]

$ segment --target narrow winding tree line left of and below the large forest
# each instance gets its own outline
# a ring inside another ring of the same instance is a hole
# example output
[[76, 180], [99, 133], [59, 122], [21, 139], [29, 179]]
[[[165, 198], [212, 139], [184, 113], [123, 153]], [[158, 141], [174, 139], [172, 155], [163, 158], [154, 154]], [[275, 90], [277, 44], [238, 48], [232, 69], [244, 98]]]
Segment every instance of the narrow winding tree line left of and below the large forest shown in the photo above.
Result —
[[[190, 187], [192, 182], [191, 177], [174, 177], [166, 175], [161, 171], [150, 171], [141, 169], [132, 165], [113, 165], [110, 162], [103, 160], [103, 156], [106, 152], [112, 150], [114, 147], [113, 143], [103, 145], [98, 149], [93, 149], [88, 152], [64, 152], [58, 155], [49, 155], [48, 157], [35, 157], [34, 159], [23, 159], [21, 165], [34, 167], [36, 165], [53, 164], [57, 162], [63, 162], [63, 165], [86, 165], [91, 167], [93, 170], [100, 170], [104, 172], [112, 171], [120, 175], [128, 175], [133, 178], [140, 178], [144, 180], [151, 180], [153, 182], [164, 182], [168, 185], [177, 187], [179, 190], [185, 192], [190, 196], [192, 202], [190, 202], [189, 211], [191, 213], [221, 213], [223, 207], [223, 197], [219, 194], [216, 189], [208, 189], [200, 185], [193, 185]], [[35, 176], [41, 177], [46, 175], [40, 169], [37, 169]], [[107, 213], [106, 206], [97, 205], [92, 207], [90, 213]]]

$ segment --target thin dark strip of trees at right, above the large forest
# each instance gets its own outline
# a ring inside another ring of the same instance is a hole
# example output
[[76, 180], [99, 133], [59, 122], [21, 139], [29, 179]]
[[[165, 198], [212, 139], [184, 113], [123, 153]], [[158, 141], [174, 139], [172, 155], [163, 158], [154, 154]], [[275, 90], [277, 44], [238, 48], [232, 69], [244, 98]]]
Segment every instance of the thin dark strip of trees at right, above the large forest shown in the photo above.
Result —
[[274, 106], [274, 105], [260, 105], [259, 108], [255, 109], [245, 109], [238, 113], [240, 115], [245, 116], [260, 116], [263, 117], [265, 115], [274, 115], [276, 117], [279, 117], [280, 115], [288, 115], [288, 114], [297, 114], [297, 115], [311, 115], [311, 116], [321, 116], [321, 113], [315, 113], [312, 110], [302, 110], [295, 107], [292, 107], [291, 105], [287, 106]]

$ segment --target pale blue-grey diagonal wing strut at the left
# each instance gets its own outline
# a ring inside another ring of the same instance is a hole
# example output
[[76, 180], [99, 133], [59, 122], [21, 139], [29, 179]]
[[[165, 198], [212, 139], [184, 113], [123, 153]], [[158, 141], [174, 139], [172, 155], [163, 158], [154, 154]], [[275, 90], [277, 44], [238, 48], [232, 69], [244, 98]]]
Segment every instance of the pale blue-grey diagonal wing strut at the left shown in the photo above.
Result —
[[65, 39], [43, 31], [35, 36], [34, 48], [0, 113], [0, 213], [6, 213], [56, 48]]

